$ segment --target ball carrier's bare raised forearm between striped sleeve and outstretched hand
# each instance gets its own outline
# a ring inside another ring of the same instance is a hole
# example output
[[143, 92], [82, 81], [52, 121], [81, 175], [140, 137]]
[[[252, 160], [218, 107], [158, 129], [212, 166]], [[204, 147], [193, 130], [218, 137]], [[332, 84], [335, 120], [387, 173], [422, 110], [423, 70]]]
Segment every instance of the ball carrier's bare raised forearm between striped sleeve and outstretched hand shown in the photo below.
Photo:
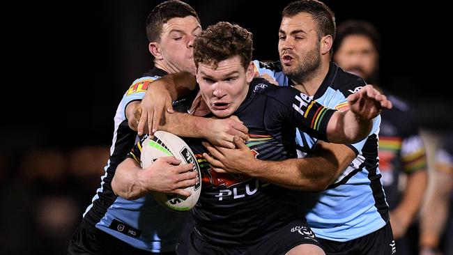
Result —
[[360, 118], [352, 111], [336, 111], [328, 123], [328, 140], [337, 144], [355, 144], [369, 135], [372, 120]]

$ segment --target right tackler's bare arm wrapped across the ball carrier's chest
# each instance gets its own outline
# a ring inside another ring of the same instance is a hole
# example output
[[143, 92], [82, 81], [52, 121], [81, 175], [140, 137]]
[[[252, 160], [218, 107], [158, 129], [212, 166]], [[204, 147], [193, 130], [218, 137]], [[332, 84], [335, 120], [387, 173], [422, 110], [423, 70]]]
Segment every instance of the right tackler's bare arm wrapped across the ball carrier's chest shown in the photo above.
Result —
[[204, 157], [214, 171], [243, 173], [292, 190], [321, 191], [332, 184], [355, 157], [344, 144], [318, 141], [312, 157], [289, 159], [281, 162], [258, 160], [238, 137], [236, 149], [204, 146], [210, 155]]

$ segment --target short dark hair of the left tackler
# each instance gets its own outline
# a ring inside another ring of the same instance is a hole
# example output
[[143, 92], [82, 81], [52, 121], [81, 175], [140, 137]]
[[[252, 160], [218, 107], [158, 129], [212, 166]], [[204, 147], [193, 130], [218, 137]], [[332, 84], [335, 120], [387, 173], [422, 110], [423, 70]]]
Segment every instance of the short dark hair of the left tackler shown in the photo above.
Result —
[[196, 17], [198, 22], [200, 19], [192, 8], [187, 3], [178, 0], [165, 1], [155, 6], [151, 13], [146, 18], [146, 36], [148, 42], [159, 42], [160, 34], [162, 33], [162, 25], [174, 17]]

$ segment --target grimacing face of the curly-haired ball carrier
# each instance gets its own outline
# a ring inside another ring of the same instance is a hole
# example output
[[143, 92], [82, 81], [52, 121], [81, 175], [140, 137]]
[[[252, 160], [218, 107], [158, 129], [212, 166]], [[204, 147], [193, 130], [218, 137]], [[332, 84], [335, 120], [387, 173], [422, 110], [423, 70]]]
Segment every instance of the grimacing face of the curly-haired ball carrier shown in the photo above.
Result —
[[245, 100], [253, 75], [253, 63], [246, 70], [240, 63], [240, 57], [233, 56], [220, 61], [216, 69], [213, 65], [199, 63], [197, 82], [210, 111], [219, 118], [225, 118], [231, 116]]

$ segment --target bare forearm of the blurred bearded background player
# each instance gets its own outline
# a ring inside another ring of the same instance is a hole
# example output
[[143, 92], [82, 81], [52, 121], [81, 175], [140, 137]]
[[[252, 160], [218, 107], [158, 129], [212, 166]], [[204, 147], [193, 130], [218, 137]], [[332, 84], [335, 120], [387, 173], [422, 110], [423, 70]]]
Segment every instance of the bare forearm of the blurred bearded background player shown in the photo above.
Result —
[[394, 209], [397, 215], [406, 217], [406, 224], [410, 224], [420, 210], [427, 188], [427, 171], [417, 171], [408, 176], [406, 191], [399, 206]]

